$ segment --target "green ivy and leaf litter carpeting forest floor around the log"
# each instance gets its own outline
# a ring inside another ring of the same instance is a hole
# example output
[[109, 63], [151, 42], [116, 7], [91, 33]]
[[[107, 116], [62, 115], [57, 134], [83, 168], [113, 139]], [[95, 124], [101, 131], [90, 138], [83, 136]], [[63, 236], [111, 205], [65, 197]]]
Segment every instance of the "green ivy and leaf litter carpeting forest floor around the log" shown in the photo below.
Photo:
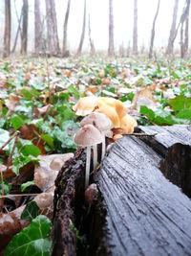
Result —
[[[1, 61], [0, 164], [19, 175], [30, 163], [37, 165], [40, 154], [75, 151], [74, 132], [80, 118], [73, 106], [84, 96], [119, 99], [139, 125], [190, 124], [190, 74], [191, 62], [179, 59]], [[20, 192], [32, 185], [33, 180], [23, 182]], [[1, 180], [0, 193], [11, 193], [11, 181]], [[31, 225], [13, 237], [5, 255], [21, 255], [34, 247], [35, 255], [50, 255], [52, 224], [38, 213], [34, 202], [26, 207], [22, 218]], [[71, 232], [79, 238], [72, 222]]]

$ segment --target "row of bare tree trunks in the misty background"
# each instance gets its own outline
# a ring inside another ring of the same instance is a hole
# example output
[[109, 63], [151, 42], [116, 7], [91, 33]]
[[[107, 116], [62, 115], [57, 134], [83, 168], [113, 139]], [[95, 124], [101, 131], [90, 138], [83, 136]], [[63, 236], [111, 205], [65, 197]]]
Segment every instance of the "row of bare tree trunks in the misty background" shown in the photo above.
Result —
[[[121, 43], [119, 48], [115, 48], [115, 20], [114, 15], [114, 3], [113, 0], [108, 1], [108, 51], [109, 57], [119, 55], [122, 57], [129, 55], [138, 55], [145, 53], [149, 58], [153, 58], [155, 54], [155, 37], [159, 33], [156, 30], [156, 24], [159, 22], [160, 2], [156, 3], [156, 11], [152, 13], [153, 22], [151, 24], [149, 45], [138, 47], [138, 2], [140, 0], [132, 0], [134, 2], [133, 12], [133, 27], [132, 27], [132, 43]], [[183, 1], [183, 0], [182, 0]], [[3, 1], [2, 1], [3, 2]], [[23, 0], [17, 2], [16, 0], [4, 0], [4, 6], [2, 6], [1, 15], [4, 19], [4, 30], [1, 30], [1, 37], [3, 38], [3, 45], [1, 49], [1, 56], [7, 58], [15, 53], [19, 52], [21, 55], [33, 54], [33, 55], [48, 55], [56, 57], [69, 57], [72, 53], [68, 42], [68, 30], [71, 15], [71, 5], [73, 0], [68, 0], [66, 10], [63, 10], [62, 30], [63, 36], [59, 38], [58, 26], [56, 18], [55, 0], [43, 1], [43, 8], [45, 12], [42, 12], [42, 1], [40, 0]], [[17, 5], [21, 5], [21, 8], [17, 8]], [[30, 13], [29, 4], [33, 5], [33, 12]], [[73, 54], [76, 56], [81, 55], [84, 46], [84, 38], [88, 36], [89, 49], [91, 55], [96, 54], [96, 44], [92, 36], [91, 27], [91, 15], [87, 12], [88, 0], [83, 1], [83, 18], [81, 22], [81, 35], [77, 39], [78, 46]], [[122, 8], [122, 7], [121, 7]], [[14, 13], [13, 13], [14, 12]], [[77, 10], [76, 10], [77, 12]], [[178, 16], [180, 12], [180, 16]], [[17, 27], [14, 26], [12, 21], [12, 15], [16, 16]], [[151, 14], [151, 13], [150, 13]], [[172, 56], [174, 54], [175, 40], [179, 37], [179, 54], [181, 58], [185, 58], [189, 48], [189, 21], [190, 21], [190, 0], [185, 0], [183, 9], [180, 10], [180, 0], [174, 1], [173, 15], [171, 17], [171, 24], [169, 26], [169, 36], [165, 42], [163, 53], [166, 56]], [[31, 25], [31, 19], [29, 15], [33, 15], [33, 49], [29, 50], [29, 26]], [[145, 13], [147, 15], [147, 13]], [[98, 13], [97, 13], [98, 16]], [[98, 18], [98, 17], [97, 17]], [[12, 30], [16, 31], [12, 34]], [[122, 28], [124, 30], [124, 28]], [[160, 32], [161, 33], [161, 32]]]

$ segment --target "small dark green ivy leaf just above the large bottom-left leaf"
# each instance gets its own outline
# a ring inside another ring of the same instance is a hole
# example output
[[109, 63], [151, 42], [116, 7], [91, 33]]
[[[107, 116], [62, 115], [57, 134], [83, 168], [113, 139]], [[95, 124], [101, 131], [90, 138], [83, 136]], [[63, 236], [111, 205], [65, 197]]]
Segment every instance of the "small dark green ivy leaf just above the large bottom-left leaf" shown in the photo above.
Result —
[[21, 214], [21, 219], [32, 222], [32, 220], [38, 216], [39, 211], [40, 208], [37, 203], [35, 201], [31, 201], [25, 206], [25, 209]]

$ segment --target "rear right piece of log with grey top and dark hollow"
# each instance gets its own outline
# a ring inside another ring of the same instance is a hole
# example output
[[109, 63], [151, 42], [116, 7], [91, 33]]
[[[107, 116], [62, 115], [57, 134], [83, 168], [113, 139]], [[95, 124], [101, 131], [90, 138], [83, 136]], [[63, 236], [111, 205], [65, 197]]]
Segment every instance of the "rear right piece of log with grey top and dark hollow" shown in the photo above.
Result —
[[191, 198], [191, 126], [140, 129], [146, 134], [157, 134], [142, 140], [164, 157], [160, 163], [163, 175]]

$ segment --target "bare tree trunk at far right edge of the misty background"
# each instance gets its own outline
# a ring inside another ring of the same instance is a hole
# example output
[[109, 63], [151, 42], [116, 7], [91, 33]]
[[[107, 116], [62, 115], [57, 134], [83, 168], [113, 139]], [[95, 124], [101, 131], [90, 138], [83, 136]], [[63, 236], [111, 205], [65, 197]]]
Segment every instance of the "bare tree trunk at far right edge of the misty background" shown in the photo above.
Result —
[[180, 57], [184, 58], [188, 50], [190, 0], [186, 0], [186, 6], [180, 22]]

